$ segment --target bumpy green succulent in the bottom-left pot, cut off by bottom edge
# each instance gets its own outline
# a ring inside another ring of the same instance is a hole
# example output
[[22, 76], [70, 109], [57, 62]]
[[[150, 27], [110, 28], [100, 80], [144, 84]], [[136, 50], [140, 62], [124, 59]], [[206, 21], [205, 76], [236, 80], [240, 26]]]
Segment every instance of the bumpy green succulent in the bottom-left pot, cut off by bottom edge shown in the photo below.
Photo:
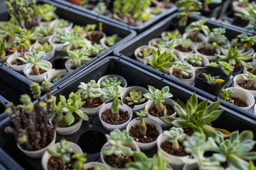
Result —
[[[52, 156], [48, 160], [48, 169], [58, 166], [59, 169], [75, 169], [82, 170], [83, 164], [86, 162], [86, 154], [74, 153], [72, 145], [65, 139], [60, 140], [60, 144], [56, 149], [47, 148], [47, 152]], [[75, 161], [77, 159], [77, 161]]]

